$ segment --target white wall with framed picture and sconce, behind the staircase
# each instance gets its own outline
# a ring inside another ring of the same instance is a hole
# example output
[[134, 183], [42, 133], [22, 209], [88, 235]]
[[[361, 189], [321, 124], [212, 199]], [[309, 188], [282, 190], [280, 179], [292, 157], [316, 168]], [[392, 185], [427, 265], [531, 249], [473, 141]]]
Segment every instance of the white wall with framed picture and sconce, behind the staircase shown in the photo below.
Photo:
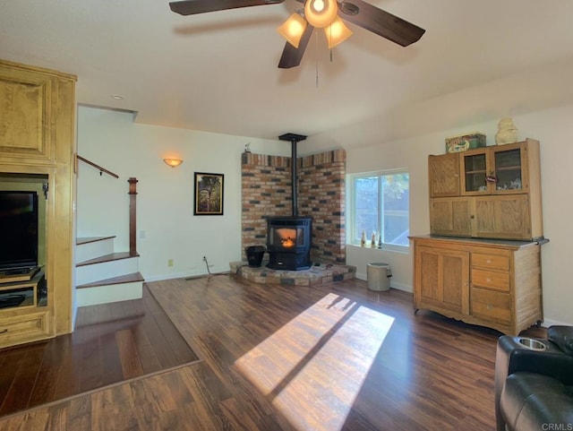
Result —
[[[145, 280], [227, 272], [241, 260], [241, 153], [289, 155], [286, 142], [209, 134], [133, 123], [131, 113], [78, 110], [78, 154], [119, 175], [80, 162], [77, 236], [115, 235], [115, 251], [129, 250], [127, 180], [137, 184], [137, 251]], [[163, 159], [184, 159], [170, 168]], [[193, 172], [225, 175], [224, 215], [193, 216]], [[167, 266], [173, 259], [174, 265]]]

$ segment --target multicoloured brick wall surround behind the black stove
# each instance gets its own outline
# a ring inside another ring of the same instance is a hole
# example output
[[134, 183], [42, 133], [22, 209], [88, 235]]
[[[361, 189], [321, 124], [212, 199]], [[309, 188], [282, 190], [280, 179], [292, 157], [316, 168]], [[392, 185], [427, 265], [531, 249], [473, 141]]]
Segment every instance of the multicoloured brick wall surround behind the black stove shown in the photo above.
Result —
[[[242, 154], [242, 241], [266, 246], [267, 218], [292, 215], [290, 157]], [[312, 216], [312, 262], [346, 263], [346, 152], [297, 160], [298, 215]]]

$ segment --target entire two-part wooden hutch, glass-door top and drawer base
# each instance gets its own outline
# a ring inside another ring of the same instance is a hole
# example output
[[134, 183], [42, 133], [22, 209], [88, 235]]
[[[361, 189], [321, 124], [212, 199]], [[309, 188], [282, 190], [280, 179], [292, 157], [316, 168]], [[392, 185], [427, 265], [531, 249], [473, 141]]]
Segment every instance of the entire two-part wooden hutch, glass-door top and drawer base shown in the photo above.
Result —
[[414, 244], [415, 310], [517, 334], [543, 321], [540, 145], [428, 157], [430, 235]]

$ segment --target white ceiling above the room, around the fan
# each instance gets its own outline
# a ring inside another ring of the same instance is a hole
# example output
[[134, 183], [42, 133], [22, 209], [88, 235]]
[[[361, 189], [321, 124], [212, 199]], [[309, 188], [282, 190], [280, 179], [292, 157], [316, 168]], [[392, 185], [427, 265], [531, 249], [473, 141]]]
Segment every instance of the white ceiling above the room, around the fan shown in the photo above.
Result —
[[276, 139], [573, 57], [571, 0], [370, 3], [426, 33], [399, 47], [348, 24], [332, 62], [317, 32], [301, 66], [282, 70], [276, 28], [295, 0], [191, 16], [167, 0], [12, 0], [0, 4], [0, 58], [74, 73], [79, 103], [140, 123]]

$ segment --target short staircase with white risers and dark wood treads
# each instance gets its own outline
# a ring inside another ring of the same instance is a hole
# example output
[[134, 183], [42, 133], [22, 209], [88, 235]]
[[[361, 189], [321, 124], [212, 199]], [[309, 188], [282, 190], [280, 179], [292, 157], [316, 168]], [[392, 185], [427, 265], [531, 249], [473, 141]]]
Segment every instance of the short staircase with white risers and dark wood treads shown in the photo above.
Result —
[[137, 252], [115, 253], [113, 237], [76, 239], [76, 305], [95, 306], [139, 299], [143, 277]]

